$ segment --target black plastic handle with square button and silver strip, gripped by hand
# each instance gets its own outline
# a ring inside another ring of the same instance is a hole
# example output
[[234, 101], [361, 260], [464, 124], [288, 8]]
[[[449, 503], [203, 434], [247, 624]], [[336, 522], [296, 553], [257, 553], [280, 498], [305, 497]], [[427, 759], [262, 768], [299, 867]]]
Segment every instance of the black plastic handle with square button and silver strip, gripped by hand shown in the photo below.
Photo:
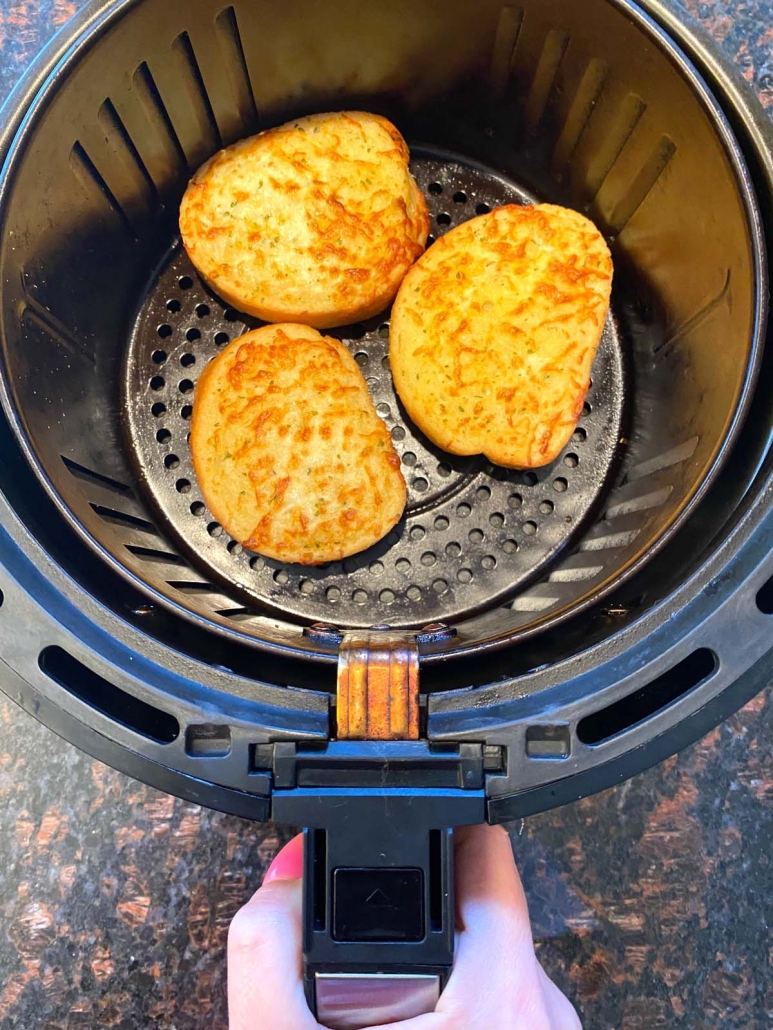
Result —
[[452, 827], [484, 820], [480, 747], [333, 742], [281, 761], [294, 786], [273, 817], [307, 827], [309, 1006], [333, 1030], [431, 1010], [453, 963]]

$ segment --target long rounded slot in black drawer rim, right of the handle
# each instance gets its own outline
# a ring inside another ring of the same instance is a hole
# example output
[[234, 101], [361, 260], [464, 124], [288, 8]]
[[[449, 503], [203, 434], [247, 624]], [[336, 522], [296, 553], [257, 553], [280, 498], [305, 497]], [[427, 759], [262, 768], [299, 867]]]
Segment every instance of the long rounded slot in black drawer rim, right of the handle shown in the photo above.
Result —
[[577, 737], [583, 744], [608, 741], [683, 697], [713, 676], [716, 668], [713, 651], [700, 648], [640, 690], [581, 719], [577, 724]]

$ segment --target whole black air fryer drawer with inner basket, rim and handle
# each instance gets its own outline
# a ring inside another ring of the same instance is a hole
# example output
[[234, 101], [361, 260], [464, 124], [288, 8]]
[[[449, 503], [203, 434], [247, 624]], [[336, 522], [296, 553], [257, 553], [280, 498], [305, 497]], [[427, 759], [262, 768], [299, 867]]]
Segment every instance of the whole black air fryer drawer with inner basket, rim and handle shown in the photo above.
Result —
[[[576, 433], [535, 472], [422, 436], [389, 312], [334, 331], [408, 509], [308, 569], [242, 549], [202, 501], [197, 377], [256, 323], [201, 282], [176, 215], [221, 146], [346, 108], [408, 139], [431, 240], [498, 204], [567, 204], [605, 233], [615, 284]], [[449, 827], [630, 776], [768, 682], [761, 109], [666, 0], [119, 0], [54, 41], [0, 132], [2, 686], [147, 782], [312, 827], [310, 995], [341, 970], [442, 982]], [[417, 649], [422, 741], [331, 741], [352, 639]], [[413, 936], [341, 929], [365, 889], [344, 866], [423, 872], [376, 881], [421, 913]]]

